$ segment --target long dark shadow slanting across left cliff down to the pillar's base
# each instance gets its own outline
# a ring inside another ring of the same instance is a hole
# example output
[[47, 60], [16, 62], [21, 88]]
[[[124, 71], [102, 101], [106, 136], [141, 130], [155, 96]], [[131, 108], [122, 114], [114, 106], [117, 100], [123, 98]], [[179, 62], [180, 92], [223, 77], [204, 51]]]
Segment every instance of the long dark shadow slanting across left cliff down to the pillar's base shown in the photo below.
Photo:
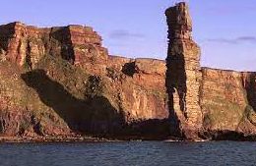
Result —
[[[76, 133], [120, 139], [164, 139], [169, 137], [169, 121], [153, 119], [127, 124], [122, 111], [117, 111], [107, 98], [85, 94], [78, 99], [65, 87], [51, 80], [43, 70], [22, 75], [28, 86], [38, 93], [40, 100], [51, 107]], [[90, 77], [87, 88], [97, 82]], [[90, 91], [90, 90], [89, 90]]]

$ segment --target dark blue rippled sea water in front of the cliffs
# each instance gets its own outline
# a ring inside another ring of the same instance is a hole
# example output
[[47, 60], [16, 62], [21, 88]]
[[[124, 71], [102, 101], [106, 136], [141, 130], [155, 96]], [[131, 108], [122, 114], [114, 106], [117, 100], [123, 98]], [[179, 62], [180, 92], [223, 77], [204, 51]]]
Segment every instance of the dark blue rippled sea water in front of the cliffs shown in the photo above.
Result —
[[256, 142], [1, 143], [0, 165], [256, 165]]

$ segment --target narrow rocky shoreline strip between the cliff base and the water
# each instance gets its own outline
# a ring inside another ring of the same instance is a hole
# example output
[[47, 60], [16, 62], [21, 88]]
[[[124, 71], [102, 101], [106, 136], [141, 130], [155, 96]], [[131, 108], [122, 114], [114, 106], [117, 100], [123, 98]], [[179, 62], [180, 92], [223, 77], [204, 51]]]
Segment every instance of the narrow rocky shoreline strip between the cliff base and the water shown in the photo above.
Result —
[[243, 133], [236, 133], [232, 131], [215, 131], [211, 133], [204, 133], [200, 135], [198, 139], [186, 139], [186, 138], [140, 138], [140, 137], [119, 137], [119, 138], [104, 138], [93, 136], [15, 136], [15, 137], [0, 137], [0, 143], [26, 143], [26, 142], [109, 142], [109, 141], [188, 141], [188, 142], [204, 142], [204, 141], [256, 141], [256, 135], [247, 135]]

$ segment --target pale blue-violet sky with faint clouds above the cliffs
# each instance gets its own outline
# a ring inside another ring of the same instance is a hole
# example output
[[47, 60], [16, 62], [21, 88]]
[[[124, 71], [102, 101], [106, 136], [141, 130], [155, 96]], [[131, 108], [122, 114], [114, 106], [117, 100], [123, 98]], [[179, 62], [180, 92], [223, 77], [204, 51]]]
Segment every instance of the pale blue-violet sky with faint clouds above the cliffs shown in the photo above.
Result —
[[[201, 65], [256, 71], [256, 0], [185, 0]], [[0, 24], [37, 27], [86, 25], [103, 38], [110, 55], [164, 60], [164, 11], [178, 0], [1, 0]], [[246, 3], [245, 3], [246, 2]]]

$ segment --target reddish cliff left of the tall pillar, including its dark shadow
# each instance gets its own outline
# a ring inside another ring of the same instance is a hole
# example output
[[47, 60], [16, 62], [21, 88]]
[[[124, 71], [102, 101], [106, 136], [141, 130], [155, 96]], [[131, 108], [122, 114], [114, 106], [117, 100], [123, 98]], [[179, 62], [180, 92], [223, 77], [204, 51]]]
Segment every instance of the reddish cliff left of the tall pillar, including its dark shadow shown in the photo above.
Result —
[[0, 132], [168, 135], [160, 60], [109, 56], [93, 28], [0, 27]]

